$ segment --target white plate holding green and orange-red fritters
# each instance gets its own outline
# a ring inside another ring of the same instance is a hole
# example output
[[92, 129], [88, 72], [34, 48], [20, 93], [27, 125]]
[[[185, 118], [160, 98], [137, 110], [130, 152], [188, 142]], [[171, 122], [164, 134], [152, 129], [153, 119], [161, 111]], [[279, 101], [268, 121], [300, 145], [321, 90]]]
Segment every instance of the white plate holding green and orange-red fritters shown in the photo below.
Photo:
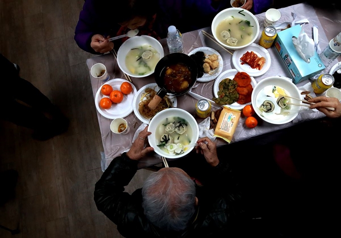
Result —
[[222, 72], [213, 85], [214, 100], [219, 105], [243, 109], [251, 104], [251, 94], [256, 80], [246, 72], [229, 69]]

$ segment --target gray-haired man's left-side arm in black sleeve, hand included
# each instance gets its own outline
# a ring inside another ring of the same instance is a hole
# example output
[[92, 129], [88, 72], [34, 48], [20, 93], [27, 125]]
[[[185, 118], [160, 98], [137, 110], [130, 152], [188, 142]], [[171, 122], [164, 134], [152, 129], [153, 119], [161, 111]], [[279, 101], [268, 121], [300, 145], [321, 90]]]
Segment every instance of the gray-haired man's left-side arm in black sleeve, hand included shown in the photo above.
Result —
[[128, 210], [134, 210], [136, 205], [131, 195], [124, 191], [137, 171], [137, 163], [153, 148], [144, 148], [144, 140], [150, 132], [147, 127], [142, 130], [127, 153], [114, 158], [101, 178], [96, 182], [94, 200], [97, 209], [102, 211], [115, 224], [122, 224], [126, 220]]

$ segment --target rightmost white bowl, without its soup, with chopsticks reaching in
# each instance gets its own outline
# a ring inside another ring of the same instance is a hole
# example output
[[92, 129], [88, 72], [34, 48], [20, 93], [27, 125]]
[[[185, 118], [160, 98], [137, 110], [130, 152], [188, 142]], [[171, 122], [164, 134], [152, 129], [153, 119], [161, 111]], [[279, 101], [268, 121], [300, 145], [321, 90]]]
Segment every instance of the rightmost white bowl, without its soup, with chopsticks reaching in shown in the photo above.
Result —
[[[291, 105], [290, 112], [285, 115], [278, 115], [274, 119], [266, 118], [262, 115], [262, 112], [260, 111], [258, 104], [257, 104], [257, 95], [258, 93], [266, 86], [279, 86], [283, 88], [288, 96], [295, 97], [295, 98], [301, 98], [300, 91], [298, 87], [289, 79], [278, 77], [278, 76], [272, 76], [262, 79], [260, 82], [257, 83], [257, 85], [253, 88], [252, 94], [251, 94], [251, 102], [255, 109], [255, 112], [257, 115], [262, 118], [263, 120], [271, 123], [271, 124], [285, 124], [290, 121], [292, 121], [297, 115], [298, 110], [301, 108], [299, 105]], [[292, 103], [295, 104], [301, 104], [301, 101], [291, 99]]]

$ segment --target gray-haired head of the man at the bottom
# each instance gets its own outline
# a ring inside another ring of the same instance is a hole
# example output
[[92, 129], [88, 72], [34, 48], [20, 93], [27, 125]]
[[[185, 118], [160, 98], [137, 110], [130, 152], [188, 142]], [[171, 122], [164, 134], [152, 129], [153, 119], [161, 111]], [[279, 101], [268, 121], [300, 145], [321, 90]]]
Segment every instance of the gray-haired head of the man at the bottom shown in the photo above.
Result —
[[142, 207], [147, 219], [163, 230], [187, 227], [195, 212], [196, 186], [185, 173], [166, 168], [152, 173], [142, 187]]

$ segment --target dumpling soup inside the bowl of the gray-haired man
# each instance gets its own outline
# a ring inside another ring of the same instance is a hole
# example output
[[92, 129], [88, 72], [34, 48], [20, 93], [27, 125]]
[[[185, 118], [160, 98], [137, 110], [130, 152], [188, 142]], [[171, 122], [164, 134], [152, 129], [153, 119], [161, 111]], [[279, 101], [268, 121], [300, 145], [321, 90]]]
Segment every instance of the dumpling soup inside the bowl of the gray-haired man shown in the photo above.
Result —
[[161, 120], [156, 128], [156, 145], [166, 153], [182, 154], [188, 149], [184, 145], [191, 143], [192, 135], [192, 127], [187, 120], [169, 116]]

